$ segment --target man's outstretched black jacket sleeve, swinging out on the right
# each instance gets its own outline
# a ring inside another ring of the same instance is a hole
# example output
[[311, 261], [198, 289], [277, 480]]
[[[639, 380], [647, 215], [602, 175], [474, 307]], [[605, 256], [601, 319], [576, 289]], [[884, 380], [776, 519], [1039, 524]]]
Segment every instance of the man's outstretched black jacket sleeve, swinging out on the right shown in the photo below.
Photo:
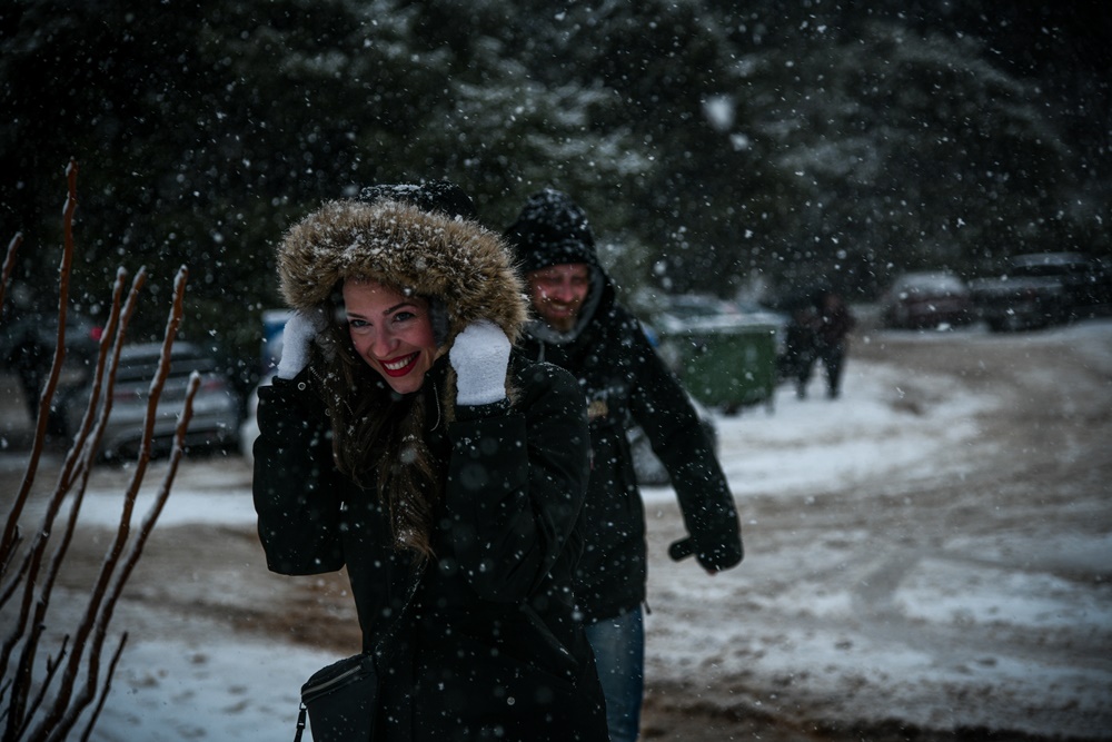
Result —
[[744, 551], [726, 476], [678, 379], [641, 333], [632, 335], [633, 416], [672, 477], [698, 563], [714, 572], [728, 570], [742, 561]]

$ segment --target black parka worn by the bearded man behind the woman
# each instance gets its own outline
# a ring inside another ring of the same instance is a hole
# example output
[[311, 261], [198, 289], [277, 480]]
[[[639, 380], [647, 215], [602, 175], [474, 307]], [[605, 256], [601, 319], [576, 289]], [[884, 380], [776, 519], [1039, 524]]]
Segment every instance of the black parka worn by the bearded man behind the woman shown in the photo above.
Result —
[[530, 358], [570, 370], [587, 396], [593, 464], [575, 590], [588, 623], [645, 601], [645, 513], [626, 435], [634, 423], [672, 477], [699, 564], [725, 570], [743, 556], [733, 494], [695, 409], [638, 320], [615, 300], [608, 277], [593, 269], [599, 296], [574, 339], [555, 343], [527, 330], [520, 344]]

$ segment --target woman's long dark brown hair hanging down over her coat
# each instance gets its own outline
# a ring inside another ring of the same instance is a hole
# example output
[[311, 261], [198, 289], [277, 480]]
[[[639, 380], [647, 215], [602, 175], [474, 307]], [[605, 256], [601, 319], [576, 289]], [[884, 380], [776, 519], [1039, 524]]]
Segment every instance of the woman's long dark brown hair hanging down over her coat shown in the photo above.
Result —
[[[342, 316], [342, 307], [335, 291], [329, 316]], [[361, 488], [378, 492], [389, 513], [395, 548], [428, 558], [444, 473], [425, 442], [426, 395], [395, 393], [359, 357], [338, 321], [329, 323], [325, 346], [318, 354], [325, 373], [317, 382], [331, 422], [336, 466]]]

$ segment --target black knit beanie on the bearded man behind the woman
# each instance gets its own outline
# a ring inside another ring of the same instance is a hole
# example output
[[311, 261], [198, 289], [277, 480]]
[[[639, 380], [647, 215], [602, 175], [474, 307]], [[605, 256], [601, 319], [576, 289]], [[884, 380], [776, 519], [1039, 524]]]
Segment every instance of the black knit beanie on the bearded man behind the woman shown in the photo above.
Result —
[[587, 215], [567, 194], [552, 188], [530, 196], [503, 237], [525, 273], [569, 263], [598, 267]]

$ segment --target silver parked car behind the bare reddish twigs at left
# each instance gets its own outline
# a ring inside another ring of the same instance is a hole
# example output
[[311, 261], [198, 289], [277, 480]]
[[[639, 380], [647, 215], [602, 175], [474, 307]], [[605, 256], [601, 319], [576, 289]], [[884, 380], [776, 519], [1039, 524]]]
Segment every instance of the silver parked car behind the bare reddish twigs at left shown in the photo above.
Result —
[[[142, 441], [143, 421], [150, 384], [158, 370], [162, 346], [143, 343], [125, 346], [116, 372], [112, 409], [105, 426], [101, 451], [107, 458], [132, 456]], [[193, 396], [193, 415], [186, 434], [190, 448], [234, 448], [238, 446], [240, 405], [231, 379], [218, 370], [216, 357], [202, 347], [179, 340], [170, 352], [170, 373], [158, 400], [152, 453], [169, 451], [181, 415], [190, 376], [200, 375]], [[107, 388], [108, 378], [103, 384]], [[71, 395], [66, 406], [67, 428], [76, 433], [85, 417], [92, 394], [91, 379]], [[101, 404], [103, 399], [100, 400]]]

